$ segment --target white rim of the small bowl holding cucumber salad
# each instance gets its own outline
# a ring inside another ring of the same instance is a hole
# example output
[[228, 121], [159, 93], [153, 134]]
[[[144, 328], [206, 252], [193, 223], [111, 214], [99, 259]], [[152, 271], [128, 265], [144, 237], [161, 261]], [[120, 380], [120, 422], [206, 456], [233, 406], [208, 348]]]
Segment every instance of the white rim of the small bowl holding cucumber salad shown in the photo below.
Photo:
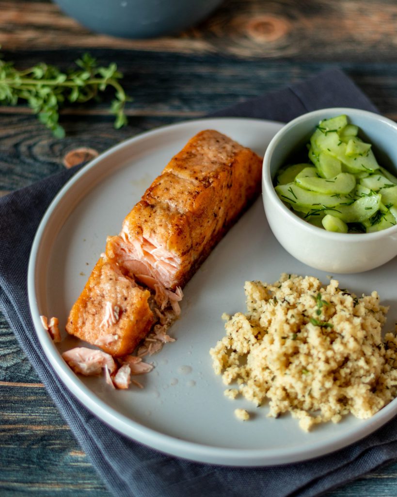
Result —
[[[265, 151], [265, 156], [263, 160], [263, 167], [262, 167], [262, 195], [263, 197], [269, 196], [269, 199], [275, 203], [275, 206], [281, 210], [281, 212], [284, 213], [284, 215], [288, 216], [292, 222], [294, 222], [297, 226], [301, 227], [308, 233], [311, 233], [313, 235], [321, 235], [323, 237], [329, 238], [331, 241], [334, 240], [335, 242], [340, 242], [340, 241], [355, 241], [355, 242], [360, 242], [363, 240], [367, 241], [375, 241], [377, 239], [382, 239], [382, 238], [388, 238], [390, 235], [396, 234], [397, 233], [397, 223], [395, 226], [392, 226], [390, 228], [387, 228], [385, 230], [380, 230], [376, 231], [373, 233], [337, 233], [337, 232], [332, 232], [332, 231], [327, 231], [323, 228], [319, 228], [317, 226], [314, 226], [310, 224], [307, 221], [304, 221], [301, 219], [298, 215], [296, 215], [294, 212], [292, 212], [288, 207], [280, 200], [278, 195], [275, 192], [274, 186], [273, 186], [273, 181], [271, 178], [270, 174], [270, 158], [271, 155], [274, 152], [275, 147], [279, 145], [283, 137], [291, 130], [291, 128], [295, 127], [297, 124], [300, 124], [301, 122], [307, 121], [313, 117], [316, 116], [321, 116], [323, 119], [324, 114], [327, 112], [332, 112], [332, 113], [338, 113], [339, 114], [346, 114], [347, 117], [350, 117], [349, 114], [354, 114], [355, 116], [366, 116], [372, 119], [375, 119], [376, 121], [383, 122], [384, 124], [390, 126], [396, 131], [396, 140], [397, 140], [397, 123], [393, 121], [392, 119], [389, 119], [388, 117], [382, 116], [381, 114], [377, 114], [376, 112], [371, 112], [368, 110], [362, 110], [362, 109], [356, 109], [353, 107], [327, 107], [324, 109], [317, 109], [313, 110], [310, 112], [306, 112], [304, 114], [301, 114], [300, 116], [292, 119], [289, 121], [285, 126], [283, 126], [271, 139], [270, 143], [268, 144], [266, 151]], [[353, 116], [352, 116], [353, 117]], [[396, 164], [397, 168], [397, 164]], [[265, 191], [266, 190], [266, 191]]]

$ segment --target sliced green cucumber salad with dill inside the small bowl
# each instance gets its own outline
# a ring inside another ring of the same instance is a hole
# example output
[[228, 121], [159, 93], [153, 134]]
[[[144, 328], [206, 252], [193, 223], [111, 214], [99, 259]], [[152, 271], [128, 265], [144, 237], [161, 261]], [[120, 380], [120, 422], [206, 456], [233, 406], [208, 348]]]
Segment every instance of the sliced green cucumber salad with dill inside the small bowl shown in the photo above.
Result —
[[397, 178], [347, 116], [324, 119], [310, 137], [309, 162], [280, 169], [275, 191], [305, 221], [339, 233], [396, 225]]

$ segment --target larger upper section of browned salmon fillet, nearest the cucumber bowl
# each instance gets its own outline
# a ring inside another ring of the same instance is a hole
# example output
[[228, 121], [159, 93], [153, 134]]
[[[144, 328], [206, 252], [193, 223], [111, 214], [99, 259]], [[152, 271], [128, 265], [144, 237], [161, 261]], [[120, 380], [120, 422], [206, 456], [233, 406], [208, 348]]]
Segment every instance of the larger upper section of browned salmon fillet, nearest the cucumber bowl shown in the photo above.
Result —
[[201, 131], [165, 167], [126, 217], [106, 254], [137, 279], [183, 287], [257, 196], [262, 159], [213, 130]]

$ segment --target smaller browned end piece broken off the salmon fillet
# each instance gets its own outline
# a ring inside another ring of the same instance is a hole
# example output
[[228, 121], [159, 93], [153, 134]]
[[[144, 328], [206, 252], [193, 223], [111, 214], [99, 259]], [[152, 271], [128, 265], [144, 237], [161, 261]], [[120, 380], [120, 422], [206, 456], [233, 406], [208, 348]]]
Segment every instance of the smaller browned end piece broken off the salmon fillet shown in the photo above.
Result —
[[132, 352], [149, 332], [150, 292], [138, 288], [115, 262], [100, 258], [73, 305], [66, 331], [120, 357]]

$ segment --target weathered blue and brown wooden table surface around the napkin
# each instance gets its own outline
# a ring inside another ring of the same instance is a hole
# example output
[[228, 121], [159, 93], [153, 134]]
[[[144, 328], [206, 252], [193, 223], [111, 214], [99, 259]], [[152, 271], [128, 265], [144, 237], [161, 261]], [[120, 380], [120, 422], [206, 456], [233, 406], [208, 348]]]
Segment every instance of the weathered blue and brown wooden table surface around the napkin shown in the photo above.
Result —
[[[89, 32], [50, 1], [0, 0], [1, 50], [17, 67], [46, 61], [66, 69], [89, 50], [103, 65], [118, 64], [133, 96], [120, 131], [107, 102], [66, 109], [64, 139], [26, 107], [0, 107], [0, 194], [62, 170], [78, 147], [101, 152], [333, 67], [397, 120], [396, 27], [395, 0], [229, 0], [179, 36], [125, 40]], [[110, 495], [3, 317], [0, 399], [2, 497]], [[327, 495], [397, 496], [397, 463]]]

